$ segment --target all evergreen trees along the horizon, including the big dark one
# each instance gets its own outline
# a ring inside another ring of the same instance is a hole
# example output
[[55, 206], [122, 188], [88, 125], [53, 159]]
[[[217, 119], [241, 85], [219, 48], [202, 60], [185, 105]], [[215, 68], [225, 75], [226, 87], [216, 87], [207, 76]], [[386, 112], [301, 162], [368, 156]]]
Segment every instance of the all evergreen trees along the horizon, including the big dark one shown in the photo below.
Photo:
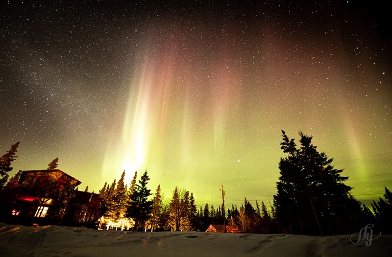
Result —
[[[137, 180], [137, 171], [129, 185], [124, 183], [125, 171], [119, 181], [105, 183], [99, 190], [101, 215], [106, 229], [133, 231], [205, 231], [210, 224], [236, 226], [242, 233], [287, 233], [307, 235], [350, 234], [366, 224], [376, 224], [383, 233], [392, 233], [392, 194], [385, 187], [384, 198], [372, 201], [370, 210], [350, 193], [344, 184], [348, 177], [335, 169], [333, 159], [319, 152], [312, 144], [312, 136], [300, 131], [297, 146], [282, 130], [277, 193], [273, 195], [270, 211], [266, 204], [256, 201], [255, 207], [244, 198], [244, 203], [196, 208], [192, 192], [175, 187], [166, 199], [158, 185], [154, 193], [147, 187], [147, 170]], [[0, 159], [0, 191], [8, 180], [11, 163], [16, 159], [19, 142], [12, 144]], [[57, 166], [58, 158], [49, 164]], [[49, 169], [48, 168], [48, 169]], [[21, 171], [20, 171], [21, 172]], [[86, 187], [86, 190], [88, 187]], [[223, 216], [223, 213], [227, 213]]]

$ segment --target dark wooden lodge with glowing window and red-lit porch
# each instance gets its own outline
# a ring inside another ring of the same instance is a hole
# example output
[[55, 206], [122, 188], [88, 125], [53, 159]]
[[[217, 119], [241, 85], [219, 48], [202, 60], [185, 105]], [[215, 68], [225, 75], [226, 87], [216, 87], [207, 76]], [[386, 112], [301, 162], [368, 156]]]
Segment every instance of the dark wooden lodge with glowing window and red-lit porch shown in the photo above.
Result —
[[1, 219], [25, 225], [84, 225], [98, 220], [98, 194], [75, 191], [81, 182], [59, 169], [25, 170], [0, 196]]

